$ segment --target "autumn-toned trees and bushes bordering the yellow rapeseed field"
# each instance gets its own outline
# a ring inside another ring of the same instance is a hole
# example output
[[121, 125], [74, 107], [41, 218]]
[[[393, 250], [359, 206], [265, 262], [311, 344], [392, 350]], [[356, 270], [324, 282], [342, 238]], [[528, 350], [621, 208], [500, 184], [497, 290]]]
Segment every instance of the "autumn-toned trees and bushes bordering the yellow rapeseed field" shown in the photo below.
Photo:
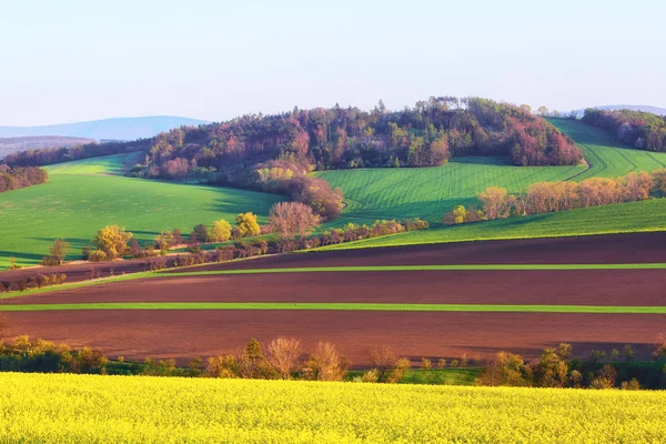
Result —
[[[396, 384], [413, 367], [412, 361], [397, 355], [389, 345], [367, 350], [370, 367], [350, 372], [353, 363], [333, 343], [320, 341], [306, 353], [296, 337], [279, 336], [262, 344], [255, 339], [235, 353], [210, 356], [205, 361], [193, 357], [185, 367], [175, 360], [152, 360], [142, 363], [125, 362], [123, 356], [110, 361], [100, 351], [90, 347], [71, 350], [27, 335], [7, 342], [7, 317], [0, 315], [0, 371], [133, 374], [152, 376], [189, 376], [252, 380], [354, 381]], [[572, 346], [559, 344], [545, 349], [534, 361], [519, 354], [497, 352], [490, 362], [480, 357], [446, 361], [440, 359], [437, 370], [483, 366], [477, 385], [531, 386], [558, 389], [664, 389], [666, 387], [666, 337], [658, 335], [653, 344], [653, 361], [637, 361], [629, 344], [609, 354], [592, 351], [587, 359], [572, 359]], [[432, 360], [423, 357], [418, 366], [424, 373], [435, 371]], [[430, 381], [430, 377], [421, 379]]]

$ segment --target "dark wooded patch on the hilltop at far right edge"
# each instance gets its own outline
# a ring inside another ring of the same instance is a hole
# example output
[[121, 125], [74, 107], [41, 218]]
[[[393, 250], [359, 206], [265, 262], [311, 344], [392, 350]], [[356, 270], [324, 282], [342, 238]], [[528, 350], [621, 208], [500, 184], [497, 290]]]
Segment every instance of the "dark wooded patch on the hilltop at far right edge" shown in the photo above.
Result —
[[666, 151], [666, 117], [633, 110], [587, 109], [583, 122], [598, 127], [622, 142], [647, 151]]

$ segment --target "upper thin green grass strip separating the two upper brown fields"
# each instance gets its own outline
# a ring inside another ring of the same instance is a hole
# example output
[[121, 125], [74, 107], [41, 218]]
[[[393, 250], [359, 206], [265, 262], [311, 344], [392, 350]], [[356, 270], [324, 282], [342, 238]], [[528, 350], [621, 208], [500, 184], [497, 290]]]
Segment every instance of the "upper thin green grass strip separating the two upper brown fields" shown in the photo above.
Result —
[[161, 272], [154, 276], [205, 276], [214, 274], [263, 273], [322, 273], [367, 271], [557, 271], [557, 270], [666, 270], [666, 263], [630, 264], [468, 264], [468, 265], [370, 265], [370, 266], [307, 266], [293, 269], [210, 270]]

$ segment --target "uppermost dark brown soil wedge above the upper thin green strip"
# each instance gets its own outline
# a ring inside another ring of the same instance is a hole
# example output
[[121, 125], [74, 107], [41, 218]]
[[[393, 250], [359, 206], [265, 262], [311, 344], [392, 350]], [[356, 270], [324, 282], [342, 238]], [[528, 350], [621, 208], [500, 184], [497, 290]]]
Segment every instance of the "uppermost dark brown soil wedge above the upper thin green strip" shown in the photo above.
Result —
[[196, 271], [344, 265], [657, 262], [666, 262], [666, 232], [314, 251], [203, 265]]

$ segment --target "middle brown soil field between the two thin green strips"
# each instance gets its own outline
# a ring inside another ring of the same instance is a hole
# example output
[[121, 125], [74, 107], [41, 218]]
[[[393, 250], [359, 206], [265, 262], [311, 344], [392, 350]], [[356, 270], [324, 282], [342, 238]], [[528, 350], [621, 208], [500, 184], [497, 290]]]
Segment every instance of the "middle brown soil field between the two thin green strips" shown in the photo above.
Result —
[[663, 270], [398, 271], [152, 278], [1, 300], [665, 305]]

